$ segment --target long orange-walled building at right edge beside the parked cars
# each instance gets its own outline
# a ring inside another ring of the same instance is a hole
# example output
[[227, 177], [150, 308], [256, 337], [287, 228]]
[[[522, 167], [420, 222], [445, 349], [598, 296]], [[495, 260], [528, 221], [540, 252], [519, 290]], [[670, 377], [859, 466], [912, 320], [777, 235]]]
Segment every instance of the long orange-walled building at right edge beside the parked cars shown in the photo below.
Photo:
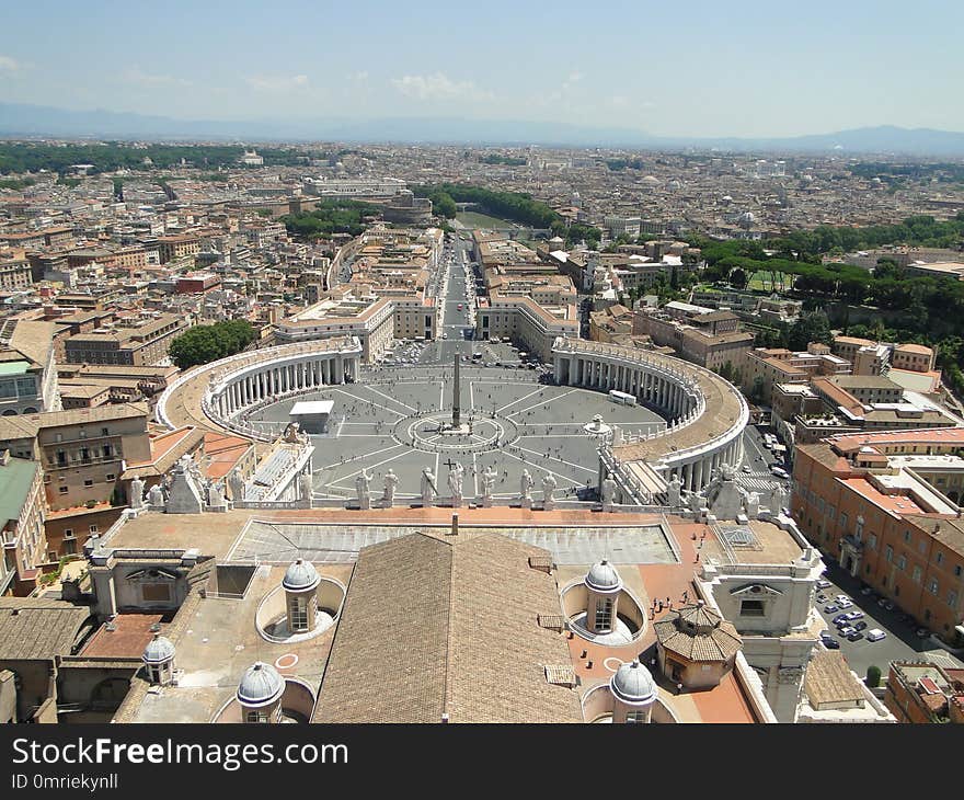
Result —
[[796, 448], [791, 498], [811, 541], [954, 647], [964, 644], [962, 452], [962, 428], [835, 435]]

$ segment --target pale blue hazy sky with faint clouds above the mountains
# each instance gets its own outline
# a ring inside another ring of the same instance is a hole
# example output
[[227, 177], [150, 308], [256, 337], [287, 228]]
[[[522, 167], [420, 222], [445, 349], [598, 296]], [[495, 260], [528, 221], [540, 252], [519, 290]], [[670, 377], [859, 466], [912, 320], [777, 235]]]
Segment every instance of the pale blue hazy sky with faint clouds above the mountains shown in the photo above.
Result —
[[0, 0], [0, 101], [656, 135], [964, 130], [962, 0]]

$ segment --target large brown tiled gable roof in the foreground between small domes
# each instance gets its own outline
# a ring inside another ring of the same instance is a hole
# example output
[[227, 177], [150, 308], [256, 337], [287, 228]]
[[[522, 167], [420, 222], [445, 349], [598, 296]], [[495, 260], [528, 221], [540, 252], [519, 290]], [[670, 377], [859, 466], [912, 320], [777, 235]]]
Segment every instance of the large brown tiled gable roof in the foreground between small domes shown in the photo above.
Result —
[[363, 549], [314, 722], [581, 722], [546, 666], [570, 662], [540, 628], [555, 580], [543, 550], [496, 534], [413, 534]]

